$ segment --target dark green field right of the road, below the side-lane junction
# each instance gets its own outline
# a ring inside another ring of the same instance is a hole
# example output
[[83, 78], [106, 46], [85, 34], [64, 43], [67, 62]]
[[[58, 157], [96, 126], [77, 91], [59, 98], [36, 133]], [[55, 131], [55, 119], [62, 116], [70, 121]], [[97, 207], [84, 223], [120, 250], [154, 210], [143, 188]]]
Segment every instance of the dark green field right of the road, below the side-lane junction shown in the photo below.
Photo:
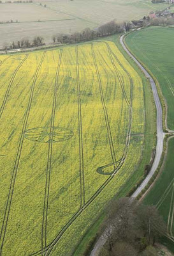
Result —
[[164, 220], [168, 227], [168, 236], [170, 241], [163, 241], [165, 244], [170, 245], [170, 249], [174, 252], [174, 138], [170, 139], [168, 145], [168, 156], [164, 170], [161, 173], [156, 184], [150, 190], [149, 194], [145, 197], [145, 204], [154, 204], [159, 209], [159, 212], [163, 215]]

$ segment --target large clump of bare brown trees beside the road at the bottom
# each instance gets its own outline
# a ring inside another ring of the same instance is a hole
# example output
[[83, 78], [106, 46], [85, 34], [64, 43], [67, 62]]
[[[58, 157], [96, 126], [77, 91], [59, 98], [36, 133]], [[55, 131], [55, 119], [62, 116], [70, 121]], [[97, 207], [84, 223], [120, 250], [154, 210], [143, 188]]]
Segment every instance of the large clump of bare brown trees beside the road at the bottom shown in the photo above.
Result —
[[[142, 252], [147, 246], [154, 245], [158, 237], [166, 234], [166, 224], [156, 207], [140, 204], [133, 198], [113, 200], [105, 211], [106, 220], [101, 232], [109, 255], [140, 255], [137, 250]], [[144, 251], [149, 252], [152, 253], [153, 250]]]

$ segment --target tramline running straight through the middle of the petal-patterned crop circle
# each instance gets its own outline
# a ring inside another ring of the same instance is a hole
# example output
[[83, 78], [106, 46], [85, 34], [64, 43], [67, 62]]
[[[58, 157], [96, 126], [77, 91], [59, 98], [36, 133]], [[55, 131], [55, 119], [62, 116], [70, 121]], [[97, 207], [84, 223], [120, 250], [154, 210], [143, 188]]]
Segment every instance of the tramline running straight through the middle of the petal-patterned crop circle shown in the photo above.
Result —
[[55, 108], [57, 102], [57, 89], [59, 88], [59, 70], [61, 67], [62, 60], [62, 50], [60, 50], [59, 63], [57, 65], [56, 75], [55, 75], [55, 85], [54, 85], [54, 99], [52, 105], [52, 116], [50, 124], [50, 138], [48, 142], [48, 160], [47, 160], [47, 170], [46, 170], [46, 182], [45, 182], [45, 197], [43, 204], [43, 221], [41, 228], [41, 249], [47, 246], [47, 215], [48, 215], [48, 199], [50, 191], [50, 172], [52, 166], [52, 143], [53, 143], [53, 132], [54, 132], [54, 119], [55, 119]]

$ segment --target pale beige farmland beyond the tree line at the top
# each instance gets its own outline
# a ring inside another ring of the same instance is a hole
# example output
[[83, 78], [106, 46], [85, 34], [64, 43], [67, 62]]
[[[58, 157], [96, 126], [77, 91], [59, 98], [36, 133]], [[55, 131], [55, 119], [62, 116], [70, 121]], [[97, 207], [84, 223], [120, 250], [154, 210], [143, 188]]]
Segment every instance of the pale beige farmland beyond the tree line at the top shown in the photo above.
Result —
[[[40, 6], [40, 3], [42, 6]], [[47, 5], [45, 8], [44, 5]], [[41, 35], [50, 43], [52, 35], [73, 33], [84, 28], [96, 29], [116, 19], [140, 19], [151, 10], [163, 10], [168, 4], [152, 4], [150, 0], [57, 0], [34, 1], [32, 4], [0, 4], [0, 22], [18, 20], [18, 24], [0, 24], [0, 47], [4, 44]], [[38, 22], [40, 20], [40, 22]], [[56, 21], [55, 21], [56, 20]]]

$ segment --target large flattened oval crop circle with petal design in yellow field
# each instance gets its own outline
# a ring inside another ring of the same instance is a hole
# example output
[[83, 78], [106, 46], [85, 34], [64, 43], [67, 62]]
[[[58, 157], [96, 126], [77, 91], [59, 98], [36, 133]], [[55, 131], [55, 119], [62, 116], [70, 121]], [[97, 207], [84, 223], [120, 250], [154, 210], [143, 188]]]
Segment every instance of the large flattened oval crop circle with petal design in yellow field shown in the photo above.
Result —
[[73, 131], [61, 127], [37, 127], [25, 131], [24, 137], [41, 143], [54, 143], [71, 139]]

